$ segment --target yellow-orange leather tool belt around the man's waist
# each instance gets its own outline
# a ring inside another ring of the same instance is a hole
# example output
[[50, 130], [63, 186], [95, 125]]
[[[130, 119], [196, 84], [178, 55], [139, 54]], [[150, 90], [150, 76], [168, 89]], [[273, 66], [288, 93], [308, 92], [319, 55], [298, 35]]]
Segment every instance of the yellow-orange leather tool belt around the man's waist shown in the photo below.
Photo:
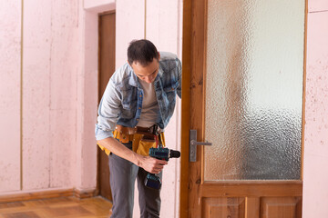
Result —
[[[113, 135], [113, 137], [122, 144], [132, 143], [132, 151], [144, 156], [149, 155], [149, 149], [151, 147], [158, 147], [159, 144], [165, 147], [164, 132], [161, 132], [156, 124], [149, 128], [117, 125], [113, 131]], [[110, 154], [108, 149], [100, 144], [98, 144], [98, 146], [101, 150], [105, 151], [106, 154]]]

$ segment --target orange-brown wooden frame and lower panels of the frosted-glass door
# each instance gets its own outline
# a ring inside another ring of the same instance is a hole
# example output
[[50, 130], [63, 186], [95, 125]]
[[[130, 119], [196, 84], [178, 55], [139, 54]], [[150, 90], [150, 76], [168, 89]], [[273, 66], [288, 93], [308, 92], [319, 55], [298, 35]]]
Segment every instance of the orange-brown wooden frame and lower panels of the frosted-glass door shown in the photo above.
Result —
[[[207, 181], [204, 175], [204, 172], [207, 170], [206, 167], [219, 167], [219, 165], [206, 165], [205, 162], [207, 160], [204, 160], [206, 158], [204, 151], [207, 148], [198, 146], [197, 161], [194, 163], [189, 161], [190, 129], [197, 130], [197, 141], [204, 142], [206, 140], [205, 111], [208, 106], [205, 99], [207, 76], [207, 2], [186, 0], [183, 5], [180, 217], [301, 218], [302, 166], [299, 167], [299, 179]], [[229, 18], [231, 17], [227, 19]], [[217, 22], [220, 22], [220, 20]], [[238, 29], [234, 29], [234, 31], [237, 33]], [[229, 43], [230, 40], [234, 39], [227, 39], [226, 42]], [[236, 55], [231, 58], [236, 58]], [[238, 63], [234, 64], [233, 67], [238, 67]], [[241, 93], [239, 84], [242, 82], [239, 80], [238, 74], [231, 74], [230, 81], [236, 84], [233, 86], [235, 89], [231, 93]], [[242, 97], [241, 94], [235, 94], [234, 96], [236, 99], [232, 101], [235, 105], [231, 106], [231, 116], [238, 113], [239, 109], [233, 108], [238, 108], [238, 99]], [[303, 100], [301, 99], [301, 101]], [[302, 103], [300, 106], [302, 108]], [[233, 110], [237, 110], [237, 112]], [[302, 129], [300, 131], [302, 134]], [[300, 141], [301, 150], [302, 139]], [[212, 146], [217, 144], [217, 142], [210, 143], [213, 144]], [[285, 152], [288, 151], [286, 150]], [[243, 158], [243, 155], [241, 154], [238, 158]], [[302, 162], [301, 158], [300, 162]]]

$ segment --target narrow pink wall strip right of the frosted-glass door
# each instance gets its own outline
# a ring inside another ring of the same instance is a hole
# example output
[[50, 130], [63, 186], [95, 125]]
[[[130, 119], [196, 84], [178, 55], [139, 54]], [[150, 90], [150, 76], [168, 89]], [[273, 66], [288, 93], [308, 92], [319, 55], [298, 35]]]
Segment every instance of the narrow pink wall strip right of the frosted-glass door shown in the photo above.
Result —
[[[315, 1], [313, 1], [315, 2]], [[311, 4], [312, 1], [309, 2]], [[303, 217], [328, 217], [328, 12], [308, 15]]]

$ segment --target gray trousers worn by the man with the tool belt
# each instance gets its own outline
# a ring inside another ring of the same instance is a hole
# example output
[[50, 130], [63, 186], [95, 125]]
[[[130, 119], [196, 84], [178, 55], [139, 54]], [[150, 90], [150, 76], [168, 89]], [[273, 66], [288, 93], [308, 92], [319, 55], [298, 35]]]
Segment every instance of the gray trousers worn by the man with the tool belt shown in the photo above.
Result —
[[[131, 149], [132, 144], [125, 144]], [[109, 155], [109, 182], [113, 197], [111, 218], [132, 218], [134, 187], [138, 182], [138, 202], [140, 218], [159, 217], [160, 190], [145, 186], [148, 174], [134, 163], [120, 158], [115, 154]], [[161, 178], [162, 173], [159, 173]]]

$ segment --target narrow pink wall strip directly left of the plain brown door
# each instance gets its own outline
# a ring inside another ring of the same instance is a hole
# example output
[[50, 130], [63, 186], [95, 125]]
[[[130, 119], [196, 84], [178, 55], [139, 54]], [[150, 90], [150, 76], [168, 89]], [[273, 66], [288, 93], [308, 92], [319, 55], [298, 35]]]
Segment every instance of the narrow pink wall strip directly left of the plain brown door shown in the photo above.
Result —
[[85, 12], [81, 32], [85, 41], [80, 59], [81, 69], [77, 76], [77, 148], [74, 151], [77, 158], [75, 185], [78, 189], [96, 188], [97, 183], [97, 144], [94, 134], [97, 122], [97, 22], [97, 14]]

